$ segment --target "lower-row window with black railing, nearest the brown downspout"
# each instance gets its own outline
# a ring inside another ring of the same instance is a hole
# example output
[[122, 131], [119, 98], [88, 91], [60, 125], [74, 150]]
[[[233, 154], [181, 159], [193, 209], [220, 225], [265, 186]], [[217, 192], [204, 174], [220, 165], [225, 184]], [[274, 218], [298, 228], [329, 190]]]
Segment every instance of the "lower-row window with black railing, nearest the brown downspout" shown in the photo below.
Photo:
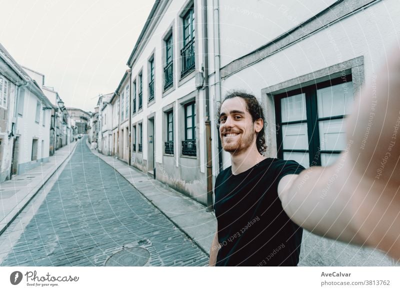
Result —
[[182, 140], [182, 154], [196, 155], [196, 123], [195, 102], [184, 105], [184, 139]]

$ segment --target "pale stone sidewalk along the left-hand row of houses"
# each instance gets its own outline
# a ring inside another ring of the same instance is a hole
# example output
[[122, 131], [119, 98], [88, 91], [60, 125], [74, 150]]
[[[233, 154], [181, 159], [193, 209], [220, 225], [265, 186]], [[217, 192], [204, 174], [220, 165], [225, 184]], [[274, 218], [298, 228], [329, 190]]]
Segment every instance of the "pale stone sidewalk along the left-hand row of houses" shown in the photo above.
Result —
[[73, 152], [78, 142], [64, 145], [49, 157], [48, 162], [0, 183], [0, 235]]

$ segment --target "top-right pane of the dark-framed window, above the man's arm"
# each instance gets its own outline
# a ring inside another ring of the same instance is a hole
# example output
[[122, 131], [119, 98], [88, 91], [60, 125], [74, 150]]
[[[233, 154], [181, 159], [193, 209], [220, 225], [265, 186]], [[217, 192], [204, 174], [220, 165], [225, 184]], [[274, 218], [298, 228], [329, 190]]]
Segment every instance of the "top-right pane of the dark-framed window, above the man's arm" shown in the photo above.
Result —
[[346, 82], [316, 91], [318, 117], [349, 114], [354, 100], [353, 83]]

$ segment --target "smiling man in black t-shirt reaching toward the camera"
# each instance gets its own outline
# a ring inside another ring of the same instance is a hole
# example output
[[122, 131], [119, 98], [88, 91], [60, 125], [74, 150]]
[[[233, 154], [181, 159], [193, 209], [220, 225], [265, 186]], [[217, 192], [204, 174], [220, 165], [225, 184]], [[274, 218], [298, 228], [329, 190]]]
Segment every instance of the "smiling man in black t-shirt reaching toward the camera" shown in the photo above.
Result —
[[215, 181], [217, 231], [209, 265], [297, 265], [301, 227], [378, 247], [400, 259], [396, 92], [399, 51], [355, 101], [347, 120], [347, 147], [337, 161], [306, 170], [294, 161], [264, 157], [264, 117], [258, 101], [243, 92], [227, 95], [220, 107], [219, 134], [231, 166]]

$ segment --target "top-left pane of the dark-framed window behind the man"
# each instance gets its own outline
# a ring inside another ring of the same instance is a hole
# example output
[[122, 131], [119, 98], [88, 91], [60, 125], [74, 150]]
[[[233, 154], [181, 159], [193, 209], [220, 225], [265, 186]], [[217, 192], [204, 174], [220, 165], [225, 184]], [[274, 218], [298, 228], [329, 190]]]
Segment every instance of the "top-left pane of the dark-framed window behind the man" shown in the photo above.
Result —
[[307, 119], [305, 94], [280, 99], [282, 122]]

